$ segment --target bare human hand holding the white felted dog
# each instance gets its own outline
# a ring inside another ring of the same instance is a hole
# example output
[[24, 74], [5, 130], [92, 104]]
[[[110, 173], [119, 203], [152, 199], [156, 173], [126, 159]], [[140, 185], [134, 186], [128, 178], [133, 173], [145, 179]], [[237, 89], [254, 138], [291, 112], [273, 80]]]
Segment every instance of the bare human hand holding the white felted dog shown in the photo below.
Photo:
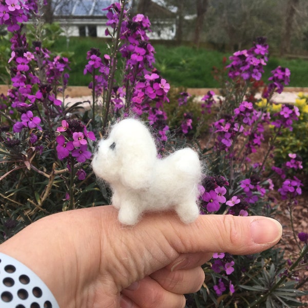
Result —
[[264, 217], [204, 215], [183, 224], [151, 213], [124, 227], [102, 206], [45, 217], [0, 245], [32, 269], [60, 307], [185, 306], [183, 294], [204, 281], [213, 252], [253, 254], [276, 244], [282, 228]]

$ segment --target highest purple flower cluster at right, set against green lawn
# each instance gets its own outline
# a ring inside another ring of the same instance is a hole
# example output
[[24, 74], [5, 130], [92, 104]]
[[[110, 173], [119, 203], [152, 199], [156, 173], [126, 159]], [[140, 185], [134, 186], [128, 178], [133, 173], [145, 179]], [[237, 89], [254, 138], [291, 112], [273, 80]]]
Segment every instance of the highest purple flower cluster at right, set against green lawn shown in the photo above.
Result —
[[264, 37], [259, 37], [257, 43], [249, 50], [240, 50], [230, 56], [232, 61], [226, 67], [229, 68], [228, 76], [231, 79], [260, 80], [266, 65], [268, 45]]

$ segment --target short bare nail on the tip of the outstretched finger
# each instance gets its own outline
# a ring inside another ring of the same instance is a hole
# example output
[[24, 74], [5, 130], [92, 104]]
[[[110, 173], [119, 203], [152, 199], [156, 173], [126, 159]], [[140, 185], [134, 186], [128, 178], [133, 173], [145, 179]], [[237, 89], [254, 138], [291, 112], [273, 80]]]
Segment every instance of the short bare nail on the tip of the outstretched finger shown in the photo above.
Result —
[[253, 241], [256, 244], [278, 242], [282, 235], [281, 224], [272, 218], [256, 219], [251, 224]]

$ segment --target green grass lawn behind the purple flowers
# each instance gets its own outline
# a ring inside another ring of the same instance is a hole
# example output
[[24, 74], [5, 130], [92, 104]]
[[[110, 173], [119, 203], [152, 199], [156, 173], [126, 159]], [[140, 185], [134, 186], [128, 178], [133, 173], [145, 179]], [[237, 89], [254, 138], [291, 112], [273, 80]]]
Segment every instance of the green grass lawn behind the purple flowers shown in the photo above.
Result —
[[[222, 53], [215, 50], [194, 48], [188, 46], [164, 46], [152, 42], [156, 50], [156, 68], [162, 76], [173, 86], [188, 88], [219, 87], [214, 80], [213, 66], [222, 68], [223, 57], [230, 53]], [[86, 54], [91, 48], [99, 48], [102, 53], [108, 53], [107, 43], [103, 38], [71, 37], [67, 44], [65, 37], [60, 37], [52, 50], [57, 52], [73, 52], [70, 57], [71, 86], [87, 86], [91, 81], [90, 75], [84, 76], [83, 69], [87, 63]], [[279, 59], [269, 57], [263, 80], [266, 81], [271, 70], [277, 66], [287, 67], [291, 70], [290, 86], [308, 87], [308, 60], [304, 59]], [[121, 62], [119, 63], [118, 77], [121, 75]]]

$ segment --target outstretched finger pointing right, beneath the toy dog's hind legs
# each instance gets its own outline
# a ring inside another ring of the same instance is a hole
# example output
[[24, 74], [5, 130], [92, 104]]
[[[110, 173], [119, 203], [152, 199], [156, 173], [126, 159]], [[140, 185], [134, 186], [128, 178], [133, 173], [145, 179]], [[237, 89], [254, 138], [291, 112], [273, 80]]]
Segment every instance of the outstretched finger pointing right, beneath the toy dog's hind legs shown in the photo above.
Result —
[[172, 223], [175, 234], [165, 224], [160, 229], [179, 253], [254, 254], [274, 246], [282, 235], [278, 221], [260, 216], [203, 215], [189, 225]]

